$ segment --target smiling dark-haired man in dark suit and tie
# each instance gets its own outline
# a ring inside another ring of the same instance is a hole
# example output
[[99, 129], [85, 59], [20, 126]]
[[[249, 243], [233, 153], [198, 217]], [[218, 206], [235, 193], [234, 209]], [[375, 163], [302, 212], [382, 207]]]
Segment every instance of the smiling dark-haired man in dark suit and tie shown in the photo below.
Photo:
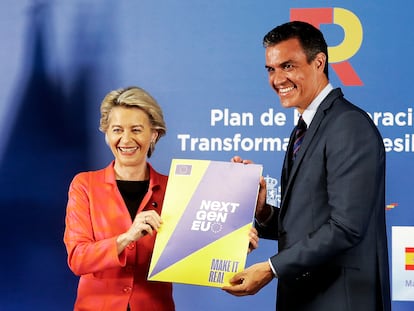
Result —
[[277, 277], [278, 311], [389, 311], [381, 135], [329, 83], [318, 29], [289, 22], [270, 31], [264, 46], [270, 85], [283, 107], [300, 113], [305, 134], [291, 135], [280, 208], [265, 203], [263, 179], [260, 185], [256, 227], [261, 237], [278, 240], [278, 253], [223, 289], [252, 295]]

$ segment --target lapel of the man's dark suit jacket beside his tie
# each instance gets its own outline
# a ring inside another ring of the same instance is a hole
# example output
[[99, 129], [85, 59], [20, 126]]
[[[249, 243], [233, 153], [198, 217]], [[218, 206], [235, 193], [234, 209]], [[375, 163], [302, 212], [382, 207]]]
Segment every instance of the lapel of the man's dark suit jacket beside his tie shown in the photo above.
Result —
[[[322, 101], [322, 103], [320, 104], [318, 110], [316, 111], [315, 116], [313, 117], [313, 120], [310, 124], [310, 126], [308, 127], [305, 137], [303, 139], [303, 142], [300, 146], [299, 152], [297, 153], [296, 159], [292, 165], [292, 168], [290, 169], [290, 171], [286, 171], [287, 175], [286, 178], [283, 177], [283, 174], [285, 172], [282, 172], [282, 189], [284, 189], [284, 191], [282, 191], [282, 201], [281, 201], [281, 205], [280, 205], [280, 214], [283, 214], [283, 209], [286, 208], [286, 197], [288, 195], [288, 193], [290, 192], [291, 188], [292, 188], [292, 184], [295, 180], [295, 176], [296, 173], [298, 171], [298, 169], [300, 168], [300, 165], [302, 163], [302, 160], [304, 158], [304, 156], [306, 155], [306, 151], [308, 150], [310, 144], [312, 143], [315, 134], [318, 131], [318, 128], [322, 122], [322, 120], [325, 118], [325, 115], [327, 113], [327, 110], [332, 106], [334, 100], [339, 97], [339, 96], [343, 96], [341, 89], [337, 88], [332, 90], [328, 96], [326, 96], [326, 98]], [[289, 141], [289, 147], [292, 143], [292, 136], [290, 137], [290, 141]], [[317, 143], [317, 142], [316, 142]], [[289, 149], [288, 149], [289, 151]], [[288, 151], [286, 153], [288, 153]], [[284, 165], [283, 165], [283, 170], [288, 170], [288, 166], [289, 166], [289, 161], [288, 161], [288, 156], [285, 156], [285, 161], [284, 161]], [[286, 184], [284, 185], [284, 182], [286, 182]]]

